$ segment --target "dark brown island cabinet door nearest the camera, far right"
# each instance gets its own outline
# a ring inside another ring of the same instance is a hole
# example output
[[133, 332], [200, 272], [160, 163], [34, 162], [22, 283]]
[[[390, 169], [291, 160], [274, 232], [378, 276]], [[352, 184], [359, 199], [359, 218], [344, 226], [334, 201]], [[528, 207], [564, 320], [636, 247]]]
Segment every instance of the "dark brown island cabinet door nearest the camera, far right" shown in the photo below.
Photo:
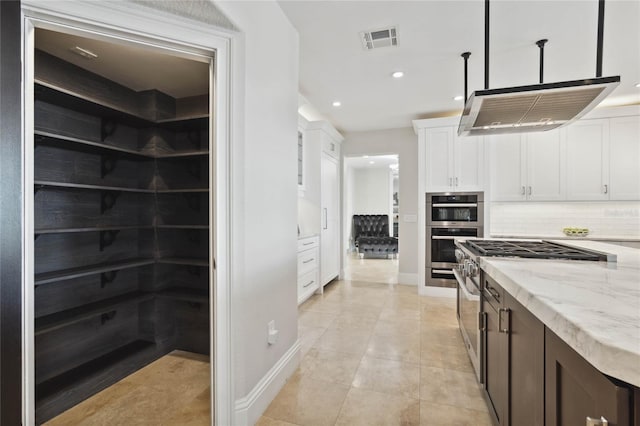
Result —
[[[584, 425], [587, 417], [604, 417], [609, 426], [632, 424], [633, 388], [607, 378], [548, 329], [545, 345], [546, 426]], [[637, 416], [637, 397], [635, 405]]]

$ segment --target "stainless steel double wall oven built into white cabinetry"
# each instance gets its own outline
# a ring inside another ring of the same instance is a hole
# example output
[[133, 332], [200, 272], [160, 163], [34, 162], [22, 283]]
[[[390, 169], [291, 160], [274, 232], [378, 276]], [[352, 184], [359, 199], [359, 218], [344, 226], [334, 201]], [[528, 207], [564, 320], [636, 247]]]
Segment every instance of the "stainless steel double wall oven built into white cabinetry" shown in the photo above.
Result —
[[426, 194], [425, 283], [456, 287], [457, 261], [453, 241], [484, 236], [484, 193], [438, 192]]

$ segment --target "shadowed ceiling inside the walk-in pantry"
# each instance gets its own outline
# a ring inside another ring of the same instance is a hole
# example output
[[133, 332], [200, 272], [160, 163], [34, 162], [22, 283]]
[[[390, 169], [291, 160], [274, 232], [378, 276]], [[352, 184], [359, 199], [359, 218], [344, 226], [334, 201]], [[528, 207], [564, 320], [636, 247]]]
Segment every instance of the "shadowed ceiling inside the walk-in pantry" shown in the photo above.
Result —
[[[72, 51], [81, 47], [98, 55], [87, 59]], [[156, 89], [174, 98], [206, 94], [209, 64], [169, 55], [158, 48], [102, 38], [86, 38], [36, 29], [35, 47], [135, 91]]]

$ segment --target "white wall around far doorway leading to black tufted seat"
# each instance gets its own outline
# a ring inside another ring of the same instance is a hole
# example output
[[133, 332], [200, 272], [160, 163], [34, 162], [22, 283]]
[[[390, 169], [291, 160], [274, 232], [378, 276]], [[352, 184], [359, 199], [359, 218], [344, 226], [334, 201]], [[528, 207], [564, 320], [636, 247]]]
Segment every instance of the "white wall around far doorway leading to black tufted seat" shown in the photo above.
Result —
[[[417, 222], [405, 222], [404, 215], [418, 213], [418, 137], [410, 127], [351, 132], [345, 133], [344, 136], [342, 152], [345, 157], [365, 154], [398, 154], [399, 156], [399, 279], [401, 283], [417, 284], [418, 238], [422, 237], [418, 235]], [[351, 226], [346, 218], [343, 223]]]

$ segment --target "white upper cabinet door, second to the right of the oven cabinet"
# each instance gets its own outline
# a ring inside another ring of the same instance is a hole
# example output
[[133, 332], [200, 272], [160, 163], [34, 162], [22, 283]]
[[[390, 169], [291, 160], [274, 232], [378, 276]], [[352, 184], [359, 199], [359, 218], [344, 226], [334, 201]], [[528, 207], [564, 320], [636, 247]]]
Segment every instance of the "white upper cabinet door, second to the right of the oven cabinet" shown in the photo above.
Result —
[[536, 201], [566, 197], [564, 151], [560, 130], [527, 133], [527, 198]]

